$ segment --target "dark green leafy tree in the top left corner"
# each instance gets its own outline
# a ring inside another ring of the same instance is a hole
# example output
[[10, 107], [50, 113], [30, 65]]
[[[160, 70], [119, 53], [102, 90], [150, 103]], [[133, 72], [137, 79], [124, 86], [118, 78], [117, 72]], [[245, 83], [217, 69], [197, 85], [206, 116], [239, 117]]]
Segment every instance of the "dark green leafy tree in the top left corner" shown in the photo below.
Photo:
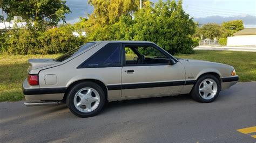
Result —
[[60, 20], [65, 22], [65, 14], [71, 12], [62, 0], [5, 0], [3, 10], [7, 13], [7, 20], [14, 16], [21, 16], [26, 22], [44, 22], [57, 25]]

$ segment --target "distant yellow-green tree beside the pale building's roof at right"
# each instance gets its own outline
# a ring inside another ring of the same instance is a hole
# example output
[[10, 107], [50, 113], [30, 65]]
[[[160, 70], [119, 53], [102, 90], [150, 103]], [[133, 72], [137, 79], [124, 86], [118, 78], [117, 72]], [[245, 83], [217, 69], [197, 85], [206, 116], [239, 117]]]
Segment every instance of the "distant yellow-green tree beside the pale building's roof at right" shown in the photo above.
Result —
[[223, 22], [221, 26], [223, 26], [224, 28], [223, 37], [232, 36], [235, 32], [238, 32], [245, 28], [244, 23], [242, 23], [242, 20], [232, 20], [230, 22]]

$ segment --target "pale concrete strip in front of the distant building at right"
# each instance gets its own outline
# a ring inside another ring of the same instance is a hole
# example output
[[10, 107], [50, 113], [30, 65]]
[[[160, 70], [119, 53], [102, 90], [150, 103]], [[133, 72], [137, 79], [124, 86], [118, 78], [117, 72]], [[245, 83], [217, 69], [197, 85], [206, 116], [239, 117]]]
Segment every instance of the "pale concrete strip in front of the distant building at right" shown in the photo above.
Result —
[[195, 50], [217, 50], [217, 51], [246, 51], [256, 52], [256, 45], [254, 46], [209, 46], [201, 45], [194, 48]]

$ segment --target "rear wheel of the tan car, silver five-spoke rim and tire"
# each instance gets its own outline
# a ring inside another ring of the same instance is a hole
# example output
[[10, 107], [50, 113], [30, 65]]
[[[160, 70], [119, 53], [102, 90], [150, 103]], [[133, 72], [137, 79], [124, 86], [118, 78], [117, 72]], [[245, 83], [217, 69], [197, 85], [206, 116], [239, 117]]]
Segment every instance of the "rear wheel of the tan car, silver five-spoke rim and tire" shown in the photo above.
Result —
[[78, 117], [91, 117], [102, 110], [105, 103], [103, 89], [94, 82], [81, 82], [71, 88], [66, 98], [70, 111]]

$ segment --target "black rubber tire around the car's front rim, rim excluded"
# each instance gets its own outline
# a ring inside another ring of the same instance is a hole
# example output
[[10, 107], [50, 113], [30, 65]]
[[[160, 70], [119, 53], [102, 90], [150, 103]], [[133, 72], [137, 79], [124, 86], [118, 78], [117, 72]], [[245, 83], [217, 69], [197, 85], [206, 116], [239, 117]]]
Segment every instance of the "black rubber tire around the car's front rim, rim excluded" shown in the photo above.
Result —
[[[200, 93], [199, 93], [199, 85], [201, 84], [201, 82], [207, 80], [207, 79], [211, 79], [213, 81], [215, 81], [215, 83], [217, 84], [217, 91], [216, 91], [216, 94], [210, 98], [210, 99], [205, 99], [203, 98]], [[196, 84], [194, 85], [192, 91], [191, 91], [191, 96], [192, 98], [195, 100], [195, 101], [198, 101], [198, 102], [201, 102], [201, 103], [210, 103], [210, 102], [213, 102], [219, 95], [219, 92], [220, 92], [220, 81], [218, 80], [217, 77], [215, 77], [214, 75], [211, 75], [211, 74], [206, 74], [206, 75], [203, 75], [201, 76]]]

